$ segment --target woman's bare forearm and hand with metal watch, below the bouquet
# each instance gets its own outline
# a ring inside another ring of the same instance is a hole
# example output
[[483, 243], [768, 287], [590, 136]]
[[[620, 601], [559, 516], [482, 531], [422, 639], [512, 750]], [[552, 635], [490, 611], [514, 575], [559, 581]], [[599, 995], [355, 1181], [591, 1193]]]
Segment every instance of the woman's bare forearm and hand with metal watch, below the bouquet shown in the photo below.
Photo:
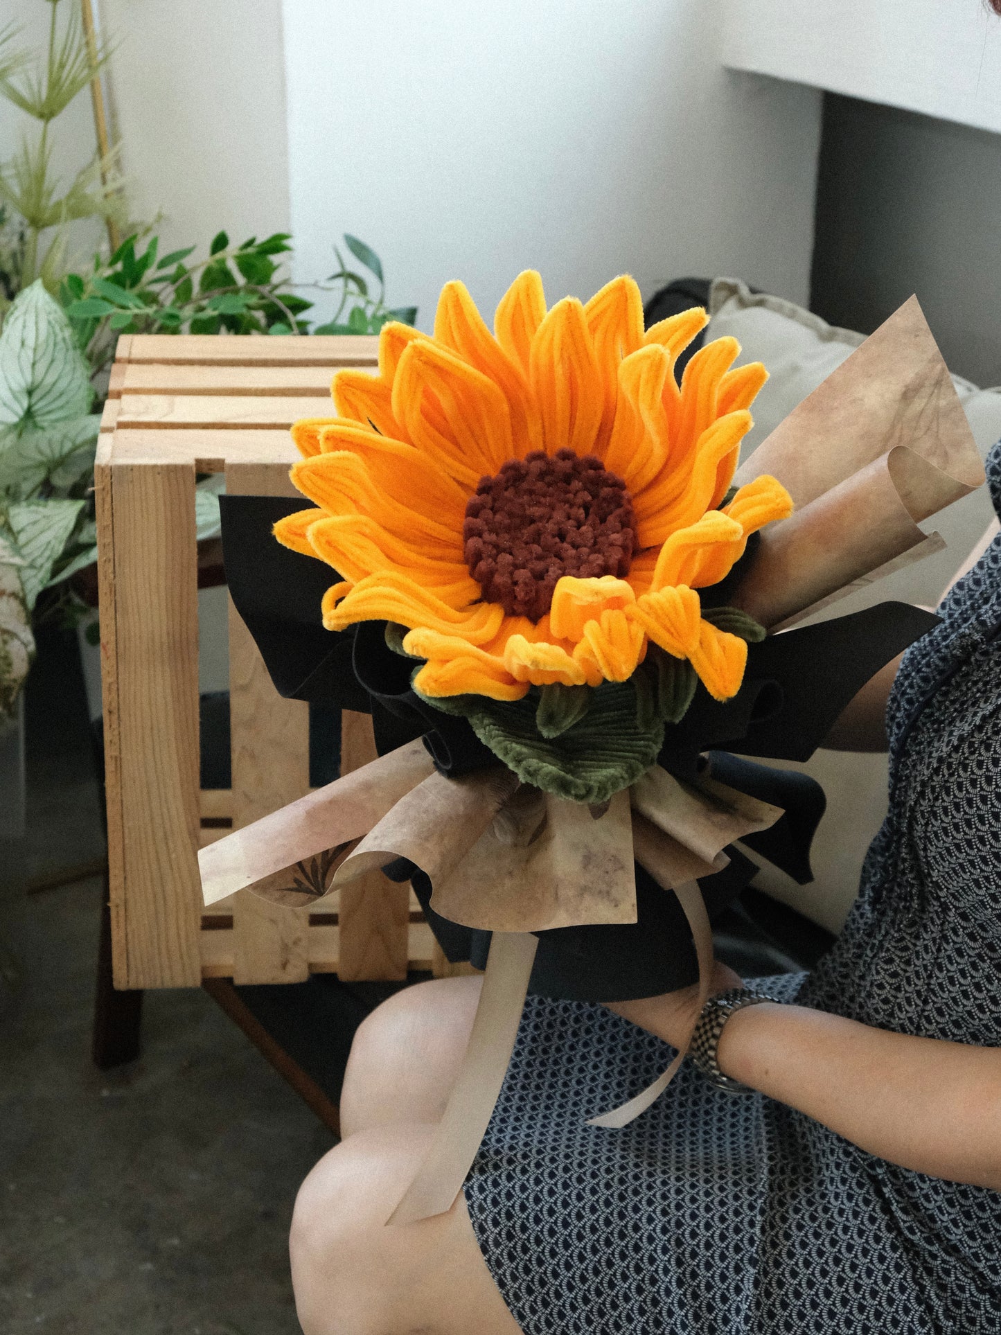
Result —
[[[714, 992], [739, 985], [717, 964]], [[683, 988], [611, 1009], [677, 1047], [695, 1005], [695, 989]], [[730, 1016], [717, 1063], [723, 1075], [880, 1159], [1001, 1191], [998, 1048], [916, 1039], [823, 1011], [762, 1003]]]

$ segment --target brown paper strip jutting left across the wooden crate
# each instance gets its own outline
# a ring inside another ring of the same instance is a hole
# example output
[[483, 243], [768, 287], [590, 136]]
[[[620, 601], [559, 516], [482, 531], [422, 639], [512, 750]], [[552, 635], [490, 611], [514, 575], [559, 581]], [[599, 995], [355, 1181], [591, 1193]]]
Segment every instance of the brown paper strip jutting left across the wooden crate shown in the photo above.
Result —
[[[402, 797], [427, 778], [432, 768], [418, 738], [210, 844], [198, 856], [204, 902], [216, 904], [236, 890], [262, 884], [268, 897], [280, 897], [284, 902], [318, 898], [318, 894], [306, 893], [295, 900], [302, 893], [295, 889], [296, 870], [300, 878], [311, 874], [310, 868], [296, 864], [319, 858], [327, 861], [330, 873], [343, 845], [367, 834]], [[275, 889], [274, 884], [276, 873], [283, 872], [288, 873], [287, 892]]]

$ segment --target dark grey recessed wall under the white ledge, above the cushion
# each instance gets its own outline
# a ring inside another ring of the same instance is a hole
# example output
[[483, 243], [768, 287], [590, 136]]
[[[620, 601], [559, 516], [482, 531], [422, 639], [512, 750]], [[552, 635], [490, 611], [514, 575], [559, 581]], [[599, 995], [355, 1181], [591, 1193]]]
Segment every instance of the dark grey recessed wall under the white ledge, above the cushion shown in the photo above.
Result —
[[810, 308], [869, 334], [912, 292], [949, 367], [1001, 383], [1001, 135], [826, 93]]

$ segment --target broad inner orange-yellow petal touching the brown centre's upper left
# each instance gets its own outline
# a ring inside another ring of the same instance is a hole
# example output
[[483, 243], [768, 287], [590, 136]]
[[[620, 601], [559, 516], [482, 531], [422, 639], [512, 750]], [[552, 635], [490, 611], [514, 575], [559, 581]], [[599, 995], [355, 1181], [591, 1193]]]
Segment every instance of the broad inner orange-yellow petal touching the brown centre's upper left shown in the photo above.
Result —
[[513, 457], [507, 400], [498, 386], [427, 339], [411, 343], [399, 360], [392, 411], [415, 447], [470, 490]]

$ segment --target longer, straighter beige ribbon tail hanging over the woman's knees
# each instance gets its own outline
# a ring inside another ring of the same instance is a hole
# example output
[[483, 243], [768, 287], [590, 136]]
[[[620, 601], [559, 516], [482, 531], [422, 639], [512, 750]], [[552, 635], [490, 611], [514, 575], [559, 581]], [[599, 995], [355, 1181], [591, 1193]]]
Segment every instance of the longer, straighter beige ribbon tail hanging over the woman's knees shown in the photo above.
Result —
[[388, 1224], [443, 1215], [462, 1191], [511, 1060], [538, 944], [529, 932], [494, 932], [459, 1077], [431, 1148]]

